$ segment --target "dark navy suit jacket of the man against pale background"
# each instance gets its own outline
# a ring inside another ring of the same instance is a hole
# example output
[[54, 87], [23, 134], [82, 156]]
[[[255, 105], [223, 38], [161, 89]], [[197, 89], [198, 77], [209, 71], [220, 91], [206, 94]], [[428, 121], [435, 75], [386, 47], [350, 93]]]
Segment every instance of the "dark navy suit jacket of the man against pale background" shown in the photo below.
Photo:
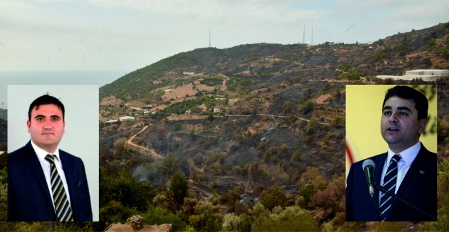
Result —
[[[92, 221], [92, 207], [82, 160], [61, 150], [59, 157], [66, 175], [73, 220]], [[8, 154], [9, 221], [56, 221], [50, 194], [44, 171], [31, 142]]]

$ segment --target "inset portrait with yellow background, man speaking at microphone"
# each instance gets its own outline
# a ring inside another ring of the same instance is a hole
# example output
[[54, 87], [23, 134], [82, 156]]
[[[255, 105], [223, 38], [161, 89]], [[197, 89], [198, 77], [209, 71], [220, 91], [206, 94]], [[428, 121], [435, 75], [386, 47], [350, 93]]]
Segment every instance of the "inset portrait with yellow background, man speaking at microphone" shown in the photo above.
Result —
[[437, 220], [437, 86], [346, 86], [346, 220]]

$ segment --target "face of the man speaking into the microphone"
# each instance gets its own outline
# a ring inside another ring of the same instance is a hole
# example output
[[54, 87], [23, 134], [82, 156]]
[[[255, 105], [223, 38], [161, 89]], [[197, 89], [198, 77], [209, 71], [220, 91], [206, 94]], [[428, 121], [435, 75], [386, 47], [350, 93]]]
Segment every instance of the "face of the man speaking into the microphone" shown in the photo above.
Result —
[[418, 119], [415, 103], [393, 96], [385, 101], [382, 110], [381, 133], [394, 153], [400, 153], [419, 141], [426, 127], [426, 119]]

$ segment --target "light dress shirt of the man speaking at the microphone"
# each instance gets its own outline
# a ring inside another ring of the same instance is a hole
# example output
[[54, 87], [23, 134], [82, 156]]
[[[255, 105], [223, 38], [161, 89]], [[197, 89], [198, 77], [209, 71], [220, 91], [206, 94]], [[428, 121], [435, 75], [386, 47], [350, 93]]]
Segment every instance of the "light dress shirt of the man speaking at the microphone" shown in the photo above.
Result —
[[[390, 150], [390, 148], [388, 148], [388, 157], [385, 160], [385, 163], [383, 164], [382, 168], [381, 185], [383, 186], [383, 178], [385, 178], [385, 173], [387, 173], [388, 164], [390, 164], [390, 160], [392, 159], [393, 155], [399, 154], [401, 155], [402, 158], [398, 162], [396, 189], [394, 189], [394, 193], [397, 193], [399, 186], [401, 186], [402, 180], [404, 180], [404, 177], [407, 174], [408, 169], [410, 169], [410, 166], [412, 166], [414, 158], [417, 157], [420, 149], [421, 149], [421, 142], [419, 141], [417, 142], [417, 144], [410, 146], [404, 151], [401, 151], [401, 153], [394, 153], [393, 151]], [[381, 196], [382, 192], [379, 191], [379, 204], [381, 202]]]

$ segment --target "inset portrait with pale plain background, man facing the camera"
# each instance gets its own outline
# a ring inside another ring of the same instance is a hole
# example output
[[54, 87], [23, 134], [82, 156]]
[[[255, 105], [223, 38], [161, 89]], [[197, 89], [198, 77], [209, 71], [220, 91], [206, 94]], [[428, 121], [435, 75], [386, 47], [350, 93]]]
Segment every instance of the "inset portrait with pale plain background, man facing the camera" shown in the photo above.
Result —
[[98, 221], [98, 86], [8, 86], [8, 220]]

